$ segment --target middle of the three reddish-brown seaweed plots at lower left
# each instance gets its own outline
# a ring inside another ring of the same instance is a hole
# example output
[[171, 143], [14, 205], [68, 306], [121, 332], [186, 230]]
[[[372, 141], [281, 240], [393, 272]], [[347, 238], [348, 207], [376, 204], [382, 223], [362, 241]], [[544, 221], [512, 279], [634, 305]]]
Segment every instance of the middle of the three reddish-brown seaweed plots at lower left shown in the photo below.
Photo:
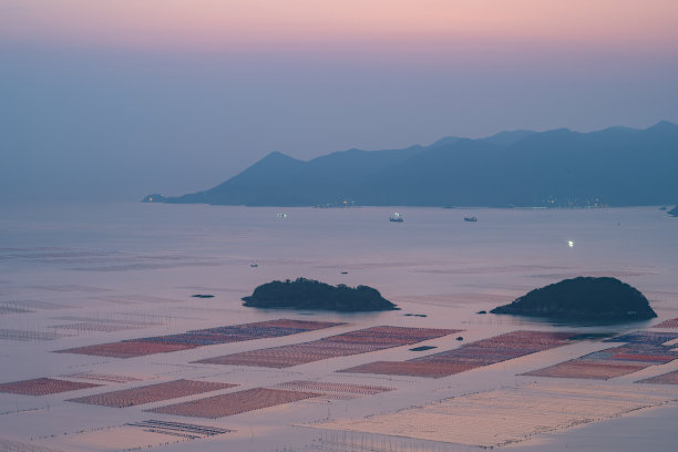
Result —
[[204, 392], [228, 389], [237, 384], [216, 383], [210, 381], [176, 380], [164, 383], [148, 384], [138, 388], [123, 389], [121, 391], [104, 392], [102, 394], [69, 399], [69, 402], [89, 403], [102, 407], [135, 407], [144, 403], [160, 402], [162, 400], [178, 399]]

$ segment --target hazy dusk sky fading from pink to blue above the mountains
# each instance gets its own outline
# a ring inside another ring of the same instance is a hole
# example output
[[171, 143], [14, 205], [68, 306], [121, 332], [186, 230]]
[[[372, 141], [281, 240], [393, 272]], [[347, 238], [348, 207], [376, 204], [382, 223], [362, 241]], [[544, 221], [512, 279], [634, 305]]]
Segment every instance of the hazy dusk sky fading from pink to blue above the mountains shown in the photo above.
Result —
[[676, 0], [0, 0], [0, 203], [137, 201], [273, 151], [678, 123]]

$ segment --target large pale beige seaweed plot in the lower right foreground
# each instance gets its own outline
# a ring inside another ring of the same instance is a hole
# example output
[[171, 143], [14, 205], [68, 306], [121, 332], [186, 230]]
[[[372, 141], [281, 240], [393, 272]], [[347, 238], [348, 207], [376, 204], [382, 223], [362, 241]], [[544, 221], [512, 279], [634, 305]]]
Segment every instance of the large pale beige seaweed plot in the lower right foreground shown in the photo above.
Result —
[[305, 427], [494, 448], [676, 401], [675, 391], [653, 387], [530, 384]]

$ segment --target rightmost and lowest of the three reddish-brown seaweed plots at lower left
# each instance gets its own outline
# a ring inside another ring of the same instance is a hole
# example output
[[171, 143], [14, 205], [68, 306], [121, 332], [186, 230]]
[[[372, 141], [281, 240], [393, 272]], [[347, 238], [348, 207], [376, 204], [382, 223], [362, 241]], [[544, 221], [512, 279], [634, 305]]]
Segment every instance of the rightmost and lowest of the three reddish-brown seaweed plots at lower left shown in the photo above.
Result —
[[315, 392], [255, 388], [146, 410], [153, 413], [216, 419], [317, 397]]

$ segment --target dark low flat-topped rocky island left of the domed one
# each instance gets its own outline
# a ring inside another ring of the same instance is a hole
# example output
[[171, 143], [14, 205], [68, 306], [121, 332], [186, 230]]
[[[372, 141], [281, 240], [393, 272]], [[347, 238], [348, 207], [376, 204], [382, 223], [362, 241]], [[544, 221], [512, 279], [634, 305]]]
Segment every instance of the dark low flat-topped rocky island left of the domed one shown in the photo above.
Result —
[[258, 286], [244, 306], [255, 308], [295, 308], [336, 310], [342, 312], [381, 311], [399, 309], [368, 286], [348, 287], [312, 279], [297, 278], [294, 281], [271, 281]]

